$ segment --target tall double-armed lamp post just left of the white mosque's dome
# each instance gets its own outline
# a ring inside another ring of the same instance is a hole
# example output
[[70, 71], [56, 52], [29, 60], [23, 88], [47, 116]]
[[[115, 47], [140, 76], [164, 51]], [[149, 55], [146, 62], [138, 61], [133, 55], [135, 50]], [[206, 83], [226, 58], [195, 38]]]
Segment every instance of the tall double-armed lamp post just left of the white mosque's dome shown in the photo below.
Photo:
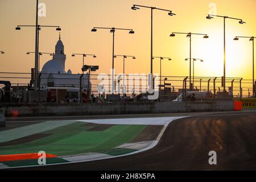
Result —
[[[37, 15], [37, 14], [36, 14]], [[15, 28], [15, 30], [20, 30], [21, 27], [36, 27], [36, 43], [35, 43], [35, 84], [34, 89], [37, 90], [38, 88], [38, 59], [39, 59], [39, 30], [41, 30], [41, 27], [54, 27], [56, 28], [56, 31], [61, 31], [60, 26], [48, 26], [48, 25], [39, 25], [36, 20], [36, 25], [19, 25]]]

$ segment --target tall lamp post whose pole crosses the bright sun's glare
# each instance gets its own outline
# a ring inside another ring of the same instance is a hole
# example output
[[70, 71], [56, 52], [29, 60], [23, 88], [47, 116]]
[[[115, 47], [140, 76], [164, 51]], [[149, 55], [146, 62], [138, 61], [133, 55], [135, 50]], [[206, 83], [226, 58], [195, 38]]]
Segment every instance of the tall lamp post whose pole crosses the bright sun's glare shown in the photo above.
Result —
[[245, 24], [245, 22], [243, 22], [242, 19], [239, 19], [239, 18], [232, 18], [232, 17], [229, 17], [229, 16], [220, 16], [220, 15], [208, 15], [206, 18], [207, 19], [213, 19], [214, 17], [213, 16], [216, 16], [216, 17], [220, 17], [220, 18], [223, 18], [224, 19], [224, 73], [223, 73], [223, 91], [225, 92], [226, 91], [226, 19], [235, 19], [235, 20], [239, 20], [239, 23], [240, 24]]

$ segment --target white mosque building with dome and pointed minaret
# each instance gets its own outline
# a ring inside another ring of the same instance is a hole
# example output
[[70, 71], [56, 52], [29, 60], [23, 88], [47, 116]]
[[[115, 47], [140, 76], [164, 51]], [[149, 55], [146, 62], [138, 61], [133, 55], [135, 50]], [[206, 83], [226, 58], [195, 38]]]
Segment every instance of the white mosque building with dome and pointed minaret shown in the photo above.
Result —
[[[65, 71], [66, 55], [64, 53], [64, 45], [60, 37], [55, 46], [55, 54], [53, 59], [47, 61], [43, 65], [40, 73], [40, 86], [43, 87], [75, 87], [80, 88], [80, 76], [79, 74], [72, 75], [72, 71], [68, 69]], [[87, 90], [88, 85], [88, 73], [82, 78], [82, 88]], [[89, 83], [90, 85], [90, 83]]]

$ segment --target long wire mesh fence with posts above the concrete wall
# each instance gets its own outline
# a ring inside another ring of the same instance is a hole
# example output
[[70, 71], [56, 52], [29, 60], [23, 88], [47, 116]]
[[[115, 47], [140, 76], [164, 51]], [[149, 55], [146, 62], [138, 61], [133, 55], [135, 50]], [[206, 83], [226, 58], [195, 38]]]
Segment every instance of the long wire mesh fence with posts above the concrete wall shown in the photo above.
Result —
[[[150, 85], [148, 78], [145, 74], [119, 74], [114, 75], [113, 82], [112, 76], [107, 74], [40, 74], [38, 88], [42, 91], [39, 92], [42, 93], [40, 97], [46, 97], [46, 102], [57, 102], [60, 97], [61, 102], [139, 101], [147, 100]], [[185, 78], [186, 76], [154, 76], [154, 89], [159, 91], [158, 101], [173, 101], [180, 94], [185, 98], [184, 94], [187, 96], [190, 90], [189, 78]], [[0, 102], [5, 102], [4, 97], [8, 92], [10, 102], [33, 102], [29, 99], [32, 96], [28, 94], [34, 89], [35, 79], [31, 73], [0, 72], [0, 80], [11, 83], [11, 90], [6, 90], [5, 85], [0, 84]], [[192, 90], [211, 93], [211, 97], [208, 97], [210, 99], [218, 99], [218, 92], [223, 90], [221, 77], [194, 77], [191, 80]], [[252, 80], [230, 77], [226, 78], [226, 86], [231, 97], [253, 96]], [[58, 89], [66, 89], [66, 92], [59, 92]]]

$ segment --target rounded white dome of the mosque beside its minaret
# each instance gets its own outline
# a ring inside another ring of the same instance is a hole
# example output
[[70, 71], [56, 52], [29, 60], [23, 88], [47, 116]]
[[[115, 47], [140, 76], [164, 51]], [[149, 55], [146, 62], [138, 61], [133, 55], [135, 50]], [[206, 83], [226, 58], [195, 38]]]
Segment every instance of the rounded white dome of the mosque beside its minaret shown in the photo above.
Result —
[[63, 66], [56, 60], [49, 60], [44, 64], [42, 73], [65, 73]]

